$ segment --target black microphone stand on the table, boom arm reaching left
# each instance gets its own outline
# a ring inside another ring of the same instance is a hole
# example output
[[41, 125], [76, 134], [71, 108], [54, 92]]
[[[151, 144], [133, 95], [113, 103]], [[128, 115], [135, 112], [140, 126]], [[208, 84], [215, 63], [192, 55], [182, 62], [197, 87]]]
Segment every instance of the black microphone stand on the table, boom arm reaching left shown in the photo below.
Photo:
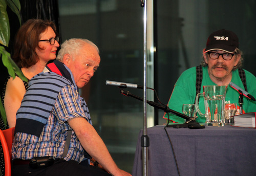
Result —
[[[122, 86], [119, 86], [119, 88], [123, 88]], [[143, 101], [143, 99], [141, 97], [138, 97], [134, 94], [131, 94], [129, 91], [125, 91], [123, 89], [120, 90], [120, 93], [125, 95], [125, 96], [128, 96], [128, 97], [133, 97], [137, 100], [140, 100], [140, 101]], [[183, 119], [186, 120], [186, 122], [184, 124], [172, 124], [172, 125], [166, 125], [166, 127], [174, 127], [174, 128], [193, 128], [193, 129], [197, 129], [197, 128], [205, 128], [204, 125], [200, 125], [199, 123], [196, 122], [196, 118], [195, 117], [188, 117], [184, 114], [181, 114], [177, 111], [174, 111], [173, 109], [170, 109], [168, 106], [163, 106], [159, 103], [156, 103], [154, 101], [149, 101], [149, 100], [146, 100], [147, 104], [153, 106], [153, 107], [156, 107], [156, 108], [159, 108], [159, 109], [162, 109], [165, 113], [171, 113], [173, 115], [176, 115], [178, 117], [181, 117]]]

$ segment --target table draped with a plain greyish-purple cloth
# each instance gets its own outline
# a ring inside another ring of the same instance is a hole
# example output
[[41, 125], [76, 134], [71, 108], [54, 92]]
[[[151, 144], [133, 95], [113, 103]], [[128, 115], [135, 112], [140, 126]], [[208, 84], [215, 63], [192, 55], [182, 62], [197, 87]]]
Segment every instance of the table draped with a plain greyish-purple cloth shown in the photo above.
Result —
[[[180, 175], [256, 175], [256, 129], [206, 126], [204, 129], [166, 128], [173, 143]], [[140, 131], [133, 176], [142, 175]], [[147, 128], [148, 176], [178, 175], [164, 126]]]

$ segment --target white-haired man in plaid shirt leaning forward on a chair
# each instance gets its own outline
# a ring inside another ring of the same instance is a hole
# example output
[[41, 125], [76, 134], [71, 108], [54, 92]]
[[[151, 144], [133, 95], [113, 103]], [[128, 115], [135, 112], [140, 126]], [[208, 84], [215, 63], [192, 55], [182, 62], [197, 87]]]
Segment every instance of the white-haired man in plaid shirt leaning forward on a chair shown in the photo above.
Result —
[[[14, 176], [131, 175], [113, 161], [78, 93], [99, 63], [94, 43], [70, 39], [62, 44], [57, 60], [30, 80], [16, 116]], [[91, 157], [109, 173], [91, 166]]]

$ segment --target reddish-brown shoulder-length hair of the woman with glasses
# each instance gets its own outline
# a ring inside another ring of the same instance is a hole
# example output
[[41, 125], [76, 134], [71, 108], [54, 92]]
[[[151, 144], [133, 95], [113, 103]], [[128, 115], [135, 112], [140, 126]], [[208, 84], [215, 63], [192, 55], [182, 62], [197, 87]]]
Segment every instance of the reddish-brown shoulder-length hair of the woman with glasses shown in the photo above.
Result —
[[38, 46], [41, 33], [51, 27], [57, 36], [56, 26], [52, 21], [29, 19], [19, 28], [15, 41], [13, 60], [19, 68], [29, 68], [38, 60], [35, 49]]

